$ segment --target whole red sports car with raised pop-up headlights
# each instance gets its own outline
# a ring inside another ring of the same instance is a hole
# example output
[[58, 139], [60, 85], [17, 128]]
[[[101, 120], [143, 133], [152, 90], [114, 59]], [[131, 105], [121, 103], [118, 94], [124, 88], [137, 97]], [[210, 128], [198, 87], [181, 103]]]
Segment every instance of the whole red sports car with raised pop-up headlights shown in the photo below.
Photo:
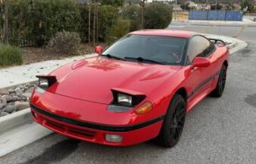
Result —
[[229, 49], [195, 32], [141, 30], [99, 54], [68, 63], [39, 83], [33, 119], [62, 135], [111, 146], [180, 139], [185, 116], [208, 94], [220, 97]]

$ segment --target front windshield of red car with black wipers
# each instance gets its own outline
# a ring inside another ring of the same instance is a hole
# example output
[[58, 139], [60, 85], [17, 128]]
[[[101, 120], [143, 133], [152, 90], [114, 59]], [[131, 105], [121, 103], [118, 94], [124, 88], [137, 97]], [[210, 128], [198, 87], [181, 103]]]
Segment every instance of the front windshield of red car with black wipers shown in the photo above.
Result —
[[[182, 62], [186, 39], [167, 36], [127, 35], [102, 55], [145, 63], [177, 65]], [[150, 62], [151, 61], [151, 62]]]

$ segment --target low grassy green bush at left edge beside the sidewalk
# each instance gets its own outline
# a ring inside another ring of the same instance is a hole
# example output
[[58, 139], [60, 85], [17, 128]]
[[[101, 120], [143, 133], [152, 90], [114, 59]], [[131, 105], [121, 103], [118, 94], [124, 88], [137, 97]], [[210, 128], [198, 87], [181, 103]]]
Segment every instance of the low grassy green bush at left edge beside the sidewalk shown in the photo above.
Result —
[[0, 44], [0, 67], [23, 63], [23, 51], [20, 48]]

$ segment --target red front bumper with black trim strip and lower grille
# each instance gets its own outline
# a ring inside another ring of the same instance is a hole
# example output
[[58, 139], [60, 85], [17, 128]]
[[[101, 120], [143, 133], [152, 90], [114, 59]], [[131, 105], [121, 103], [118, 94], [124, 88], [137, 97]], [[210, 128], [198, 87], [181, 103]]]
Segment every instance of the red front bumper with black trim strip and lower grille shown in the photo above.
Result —
[[[161, 116], [148, 122], [127, 126], [101, 125], [59, 116], [33, 104], [30, 106], [33, 119], [46, 128], [71, 138], [110, 146], [130, 146], [155, 138], [164, 119], [164, 116]], [[123, 140], [121, 142], [106, 141], [106, 134], [121, 135]]]

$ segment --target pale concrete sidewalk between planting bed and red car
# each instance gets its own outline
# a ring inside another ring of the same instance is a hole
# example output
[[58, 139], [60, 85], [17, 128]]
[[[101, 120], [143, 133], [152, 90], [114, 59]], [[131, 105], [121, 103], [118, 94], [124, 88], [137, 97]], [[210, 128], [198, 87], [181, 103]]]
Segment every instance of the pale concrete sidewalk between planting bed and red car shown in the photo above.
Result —
[[36, 75], [46, 75], [66, 63], [89, 56], [91, 55], [70, 57], [63, 60], [48, 60], [39, 63], [0, 69], [0, 88], [36, 81]]

